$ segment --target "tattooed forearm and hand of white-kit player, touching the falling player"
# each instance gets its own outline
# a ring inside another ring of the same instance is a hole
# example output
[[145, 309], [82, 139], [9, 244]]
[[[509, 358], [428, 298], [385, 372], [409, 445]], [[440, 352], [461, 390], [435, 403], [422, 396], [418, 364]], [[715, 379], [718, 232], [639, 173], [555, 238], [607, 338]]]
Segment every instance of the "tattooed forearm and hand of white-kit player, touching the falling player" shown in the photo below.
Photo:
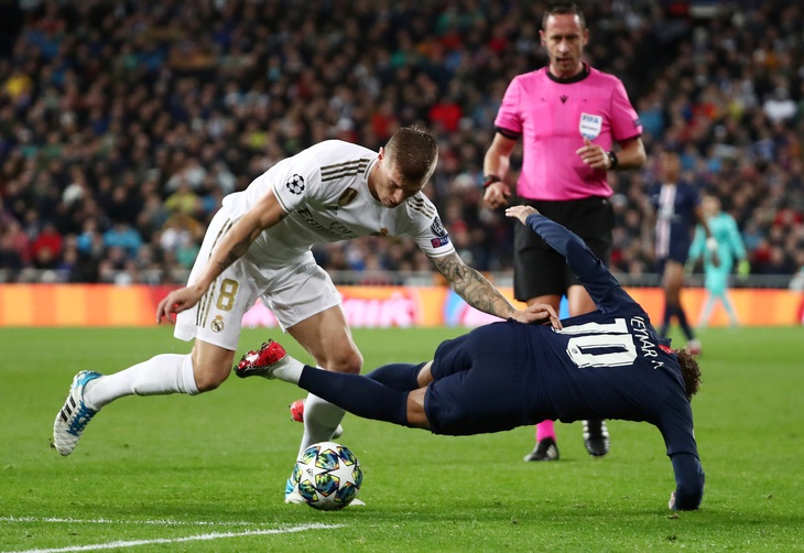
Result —
[[464, 263], [457, 252], [431, 257], [430, 262], [444, 275], [455, 293], [476, 310], [500, 318], [511, 317], [520, 323], [550, 323], [561, 328], [553, 307], [534, 304], [524, 311], [517, 310], [482, 274]]

